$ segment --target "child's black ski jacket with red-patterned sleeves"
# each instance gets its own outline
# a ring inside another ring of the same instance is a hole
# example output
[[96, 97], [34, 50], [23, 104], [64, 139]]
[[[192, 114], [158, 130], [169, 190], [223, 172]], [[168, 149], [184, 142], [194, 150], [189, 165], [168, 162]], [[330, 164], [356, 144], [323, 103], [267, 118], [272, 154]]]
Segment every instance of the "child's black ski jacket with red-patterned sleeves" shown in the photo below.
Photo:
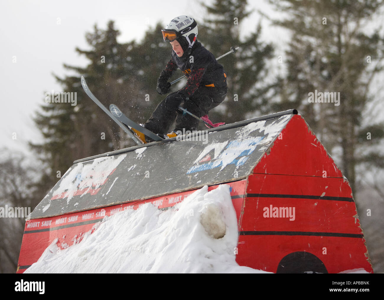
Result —
[[198, 87], [226, 87], [227, 75], [214, 55], [205, 49], [198, 41], [192, 47], [192, 51], [185, 59], [178, 57], [172, 50], [171, 59], [162, 70], [160, 77], [168, 80], [179, 68], [188, 78], [187, 84], [178, 91], [184, 97], [190, 97]]

